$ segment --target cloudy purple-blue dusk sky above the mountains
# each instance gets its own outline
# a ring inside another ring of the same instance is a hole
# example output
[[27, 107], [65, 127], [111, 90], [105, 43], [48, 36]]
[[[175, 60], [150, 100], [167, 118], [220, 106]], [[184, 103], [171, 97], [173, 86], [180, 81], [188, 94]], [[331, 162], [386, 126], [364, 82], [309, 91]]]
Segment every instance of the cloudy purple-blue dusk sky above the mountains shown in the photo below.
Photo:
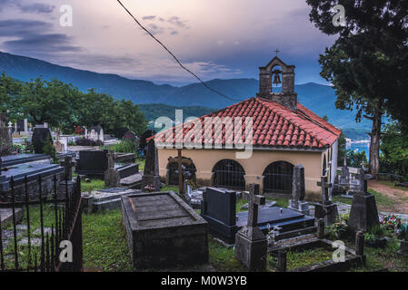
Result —
[[[319, 53], [333, 43], [309, 22], [304, 0], [123, 0], [159, 40], [204, 80], [257, 78], [279, 56], [296, 83], [320, 82]], [[62, 5], [73, 25], [60, 24]], [[98, 73], [195, 82], [116, 0], [0, 0], [0, 51]]]

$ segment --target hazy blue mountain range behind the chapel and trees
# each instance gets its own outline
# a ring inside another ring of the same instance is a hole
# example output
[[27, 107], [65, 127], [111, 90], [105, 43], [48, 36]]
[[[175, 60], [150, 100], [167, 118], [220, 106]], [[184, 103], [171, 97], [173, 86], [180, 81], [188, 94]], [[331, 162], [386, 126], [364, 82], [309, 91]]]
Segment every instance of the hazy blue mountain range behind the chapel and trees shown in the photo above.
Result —
[[[192, 115], [200, 116], [208, 111], [253, 97], [258, 91], [258, 81], [255, 79], [214, 79], [206, 82], [215, 90], [236, 100], [230, 101], [207, 90], [201, 83], [191, 83], [182, 87], [159, 85], [154, 82], [126, 79], [117, 74], [76, 70], [30, 57], [0, 52], [0, 72], [3, 71], [21, 81], [30, 81], [39, 76], [45, 79], [56, 78], [62, 82], [72, 83], [83, 92], [95, 88], [98, 92], [109, 93], [117, 99], [149, 104], [141, 107], [148, 119], [163, 115], [164, 112], [173, 110], [174, 106], [189, 107], [185, 109], [191, 111]], [[335, 109], [335, 94], [330, 86], [309, 82], [296, 85], [295, 92], [298, 94], [299, 102], [319, 116], [327, 116], [333, 125], [346, 130], [348, 135], [353, 135], [353, 139], [367, 138], [363, 132], [370, 130], [370, 122], [364, 120], [356, 123], [355, 112]], [[150, 104], [164, 104], [167, 107]]]

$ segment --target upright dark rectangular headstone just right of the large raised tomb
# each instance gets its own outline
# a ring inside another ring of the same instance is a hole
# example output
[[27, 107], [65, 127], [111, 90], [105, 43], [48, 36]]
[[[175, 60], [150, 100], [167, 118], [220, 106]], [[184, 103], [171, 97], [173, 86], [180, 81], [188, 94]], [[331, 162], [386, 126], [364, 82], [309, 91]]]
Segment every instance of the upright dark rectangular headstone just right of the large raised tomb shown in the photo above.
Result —
[[236, 193], [228, 189], [203, 190], [201, 216], [208, 222], [210, 232], [228, 244], [234, 244], [236, 226]]

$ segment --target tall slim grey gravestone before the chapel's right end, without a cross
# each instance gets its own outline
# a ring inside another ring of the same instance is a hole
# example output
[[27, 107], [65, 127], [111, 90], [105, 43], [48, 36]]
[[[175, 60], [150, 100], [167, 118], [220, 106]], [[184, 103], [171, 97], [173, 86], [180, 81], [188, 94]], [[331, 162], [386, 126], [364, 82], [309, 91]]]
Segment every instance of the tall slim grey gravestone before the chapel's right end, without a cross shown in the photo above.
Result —
[[289, 200], [289, 208], [301, 212], [308, 216], [310, 213], [309, 203], [304, 201], [304, 166], [297, 165], [294, 167], [294, 179], [292, 186], [292, 199]]

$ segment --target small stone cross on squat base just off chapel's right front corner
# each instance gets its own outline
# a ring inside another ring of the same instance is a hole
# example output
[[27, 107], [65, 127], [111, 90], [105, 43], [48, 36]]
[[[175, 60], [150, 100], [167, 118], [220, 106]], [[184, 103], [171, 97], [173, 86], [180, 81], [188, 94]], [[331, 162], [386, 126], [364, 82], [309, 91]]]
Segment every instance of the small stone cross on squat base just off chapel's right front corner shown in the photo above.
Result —
[[322, 188], [322, 200], [314, 205], [314, 218], [323, 218], [325, 225], [333, 225], [339, 220], [339, 211], [337, 205], [329, 199], [329, 188], [332, 184], [327, 182], [327, 176], [323, 176], [317, 186]]

